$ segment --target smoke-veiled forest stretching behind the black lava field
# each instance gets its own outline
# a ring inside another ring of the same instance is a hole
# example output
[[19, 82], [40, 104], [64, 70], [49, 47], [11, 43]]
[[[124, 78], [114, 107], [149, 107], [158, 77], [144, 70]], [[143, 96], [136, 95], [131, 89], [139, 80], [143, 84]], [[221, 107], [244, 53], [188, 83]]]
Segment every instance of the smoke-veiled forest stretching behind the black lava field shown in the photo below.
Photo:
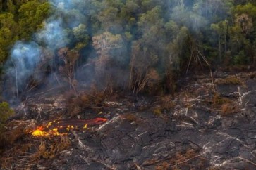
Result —
[[255, 64], [255, 26], [249, 0], [0, 0], [4, 89], [170, 93], [180, 74]]

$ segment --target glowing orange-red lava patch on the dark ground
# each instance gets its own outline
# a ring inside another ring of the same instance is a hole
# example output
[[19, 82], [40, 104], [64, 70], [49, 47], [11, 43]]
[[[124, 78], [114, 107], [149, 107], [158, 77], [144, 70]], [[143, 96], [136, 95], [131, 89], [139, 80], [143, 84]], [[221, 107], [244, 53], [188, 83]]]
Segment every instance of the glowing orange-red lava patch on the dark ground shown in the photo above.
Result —
[[32, 132], [32, 136], [61, 136], [67, 135], [68, 131], [75, 129], [87, 129], [88, 126], [103, 124], [107, 119], [96, 118], [90, 120], [83, 119], [56, 119], [53, 122], [42, 124]]

